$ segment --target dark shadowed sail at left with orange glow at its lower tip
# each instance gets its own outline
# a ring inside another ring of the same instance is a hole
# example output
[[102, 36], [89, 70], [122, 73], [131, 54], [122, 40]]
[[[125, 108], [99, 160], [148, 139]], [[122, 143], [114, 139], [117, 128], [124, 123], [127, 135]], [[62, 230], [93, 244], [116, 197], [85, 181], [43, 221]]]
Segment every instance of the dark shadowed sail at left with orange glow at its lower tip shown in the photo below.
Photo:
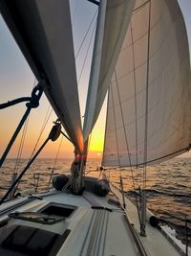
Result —
[[79, 151], [83, 136], [78, 103], [69, 1], [1, 1], [0, 11], [37, 80]]

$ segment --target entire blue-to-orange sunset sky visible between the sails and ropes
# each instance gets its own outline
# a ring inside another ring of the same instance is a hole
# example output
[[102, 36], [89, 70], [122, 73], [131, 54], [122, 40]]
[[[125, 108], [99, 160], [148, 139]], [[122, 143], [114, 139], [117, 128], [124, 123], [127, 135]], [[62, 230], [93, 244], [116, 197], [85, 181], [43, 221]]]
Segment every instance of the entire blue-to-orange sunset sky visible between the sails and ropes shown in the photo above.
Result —
[[[171, 1], [171, 0], [170, 0]], [[183, 12], [186, 29], [188, 33], [189, 45], [191, 45], [191, 1], [179, 0], [181, 11]], [[83, 40], [83, 36], [89, 28], [94, 16], [96, 16], [96, 5], [85, 0], [71, 0], [72, 20], [74, 28], [74, 52], [78, 53], [78, 49]], [[81, 13], [80, 15], [77, 13]], [[77, 69], [77, 81], [78, 91], [80, 97], [81, 116], [84, 115], [85, 102], [87, 94], [87, 86], [89, 81], [90, 72], [90, 59], [93, 51], [94, 44], [94, 30], [95, 30], [96, 18], [93, 21], [93, 25], [90, 28], [90, 33], [81, 48], [81, 51], [76, 57], [76, 69]], [[86, 55], [87, 47], [90, 45], [90, 50], [87, 55], [87, 60], [84, 62], [84, 56]], [[84, 65], [85, 72], [81, 75], [81, 69]], [[8, 31], [2, 17], [0, 16], [0, 103], [8, 102], [9, 100], [30, 96], [32, 92], [32, 86], [35, 83], [32, 71], [27, 64], [25, 58], [20, 53], [16, 43], [14, 42], [10, 32]], [[9, 143], [11, 134], [16, 128], [19, 120], [24, 114], [26, 109], [25, 104], [16, 105], [4, 110], [1, 110], [1, 126], [0, 126], [0, 155], [5, 151], [6, 145]], [[32, 153], [32, 149], [35, 146], [38, 139], [41, 127], [44, 122], [44, 117], [47, 114], [49, 103], [45, 96], [40, 101], [38, 109], [32, 109], [30, 116], [29, 128], [27, 130], [26, 142], [24, 145], [24, 153], [22, 157], [29, 157]], [[89, 147], [90, 157], [100, 157], [103, 149], [103, 138], [105, 129], [105, 110], [106, 103], [102, 107], [102, 113], [96, 123], [96, 128], [91, 136], [91, 145]], [[56, 120], [56, 116], [52, 112], [48, 125], [43, 132], [43, 136], [39, 141], [38, 146], [46, 139], [53, 126], [53, 121]], [[83, 122], [83, 118], [82, 118]], [[13, 146], [9, 157], [16, 157], [17, 150], [20, 144], [22, 132], [17, 138], [15, 145]], [[50, 143], [45, 151], [40, 154], [40, 157], [53, 158], [56, 154], [60, 143], [61, 137], [54, 143]], [[59, 153], [60, 158], [68, 158], [74, 156], [74, 148], [70, 142], [63, 139], [62, 147]], [[191, 153], [186, 153], [183, 156], [191, 156]]]

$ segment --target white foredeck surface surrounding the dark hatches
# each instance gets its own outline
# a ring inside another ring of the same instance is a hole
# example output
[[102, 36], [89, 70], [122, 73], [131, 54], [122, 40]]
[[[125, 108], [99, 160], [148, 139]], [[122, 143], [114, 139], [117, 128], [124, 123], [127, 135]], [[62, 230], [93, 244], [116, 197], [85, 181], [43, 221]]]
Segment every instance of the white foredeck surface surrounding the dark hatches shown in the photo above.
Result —
[[[119, 197], [118, 191], [114, 189]], [[62, 235], [66, 229], [71, 230], [65, 242], [60, 247], [57, 255], [62, 256], [177, 256], [177, 250], [160, 234], [157, 228], [147, 225], [147, 237], [138, 235], [139, 224], [137, 210], [134, 204], [126, 199], [127, 214], [131, 223], [135, 224], [138, 239], [143, 244], [146, 253], [138, 251], [137, 243], [132, 236], [131, 228], [125, 221], [124, 213], [117, 206], [107, 202], [107, 198], [99, 198], [96, 195], [84, 192], [83, 196], [74, 196], [68, 193], [54, 193], [52, 191], [45, 194], [42, 200], [33, 199], [25, 205], [20, 206], [16, 211], [38, 211], [50, 202], [72, 205], [76, 207], [74, 213], [65, 221], [53, 225], [36, 223], [32, 221], [15, 221], [15, 223], [33, 226], [40, 229], [52, 231]], [[22, 199], [19, 199], [22, 200]], [[9, 204], [12, 204], [10, 202]], [[8, 206], [8, 205], [7, 205]], [[104, 207], [102, 209], [92, 209], [92, 206]], [[5, 208], [6, 205], [1, 208]], [[109, 211], [108, 208], [112, 211]], [[15, 209], [13, 210], [15, 211]], [[12, 212], [13, 212], [12, 211]], [[6, 216], [1, 217], [0, 221]]]

